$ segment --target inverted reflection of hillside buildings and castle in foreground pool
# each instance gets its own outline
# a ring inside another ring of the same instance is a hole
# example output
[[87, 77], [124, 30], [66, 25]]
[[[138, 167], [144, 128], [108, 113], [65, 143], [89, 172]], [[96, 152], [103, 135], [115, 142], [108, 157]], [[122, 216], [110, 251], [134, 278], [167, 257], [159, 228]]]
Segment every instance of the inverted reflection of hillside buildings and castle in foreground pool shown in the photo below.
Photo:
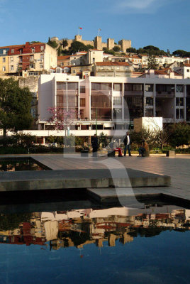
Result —
[[49, 246], [61, 249], [87, 244], [127, 244], [137, 236], [151, 237], [165, 230], [190, 229], [190, 210], [172, 205], [144, 209], [114, 207], [67, 212], [1, 214], [0, 243]]

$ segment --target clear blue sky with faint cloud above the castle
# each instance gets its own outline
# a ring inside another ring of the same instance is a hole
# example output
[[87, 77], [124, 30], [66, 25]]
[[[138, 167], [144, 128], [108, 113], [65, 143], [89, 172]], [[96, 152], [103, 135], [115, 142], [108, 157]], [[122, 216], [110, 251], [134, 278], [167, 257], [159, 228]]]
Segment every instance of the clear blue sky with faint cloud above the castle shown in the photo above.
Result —
[[155, 45], [190, 51], [189, 0], [0, 0], [0, 46], [48, 37], [132, 40], [133, 48]]

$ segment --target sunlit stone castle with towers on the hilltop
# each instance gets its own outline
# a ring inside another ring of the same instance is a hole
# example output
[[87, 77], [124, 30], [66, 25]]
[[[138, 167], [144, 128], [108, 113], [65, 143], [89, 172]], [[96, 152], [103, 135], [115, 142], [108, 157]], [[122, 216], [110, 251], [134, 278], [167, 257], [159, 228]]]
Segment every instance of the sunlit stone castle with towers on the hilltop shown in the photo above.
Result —
[[[58, 44], [62, 43], [62, 39], [59, 40], [59, 38], [57, 37], [53, 37], [51, 38], [51, 40], [55, 40], [56, 43]], [[67, 39], [68, 45], [65, 49], [69, 49], [69, 47], [71, 46], [72, 43], [74, 43], [74, 41], [79, 41], [81, 43], [84, 43], [84, 45], [92, 45], [94, 46], [94, 48], [98, 50], [102, 50], [103, 48], [107, 48], [108, 50], [111, 50], [114, 48], [114, 46], [118, 46], [120, 50], [125, 53], [127, 48], [131, 48], [131, 40], [122, 39], [122, 40], [119, 40], [117, 44], [115, 43], [113, 38], [108, 38], [107, 43], [103, 43], [101, 41], [101, 36], [96, 36], [94, 40], [82, 40], [82, 35], [75, 35], [73, 40]]]

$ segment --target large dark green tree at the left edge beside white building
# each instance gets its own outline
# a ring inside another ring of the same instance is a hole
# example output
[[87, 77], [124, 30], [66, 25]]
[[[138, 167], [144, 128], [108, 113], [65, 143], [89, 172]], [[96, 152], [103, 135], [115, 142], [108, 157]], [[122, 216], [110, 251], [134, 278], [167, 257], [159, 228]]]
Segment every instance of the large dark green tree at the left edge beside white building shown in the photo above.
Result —
[[30, 128], [32, 94], [28, 87], [21, 89], [18, 81], [0, 79], [0, 128], [6, 131], [21, 131]]

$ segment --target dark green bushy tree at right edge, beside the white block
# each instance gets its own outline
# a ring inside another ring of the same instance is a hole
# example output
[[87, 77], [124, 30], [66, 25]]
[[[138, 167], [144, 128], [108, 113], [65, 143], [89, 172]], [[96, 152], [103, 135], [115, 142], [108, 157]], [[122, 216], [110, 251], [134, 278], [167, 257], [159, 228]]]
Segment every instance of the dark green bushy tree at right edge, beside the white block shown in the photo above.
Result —
[[169, 126], [171, 136], [169, 136], [169, 144], [172, 147], [181, 145], [189, 145], [190, 143], [190, 126], [186, 123], [172, 124]]

